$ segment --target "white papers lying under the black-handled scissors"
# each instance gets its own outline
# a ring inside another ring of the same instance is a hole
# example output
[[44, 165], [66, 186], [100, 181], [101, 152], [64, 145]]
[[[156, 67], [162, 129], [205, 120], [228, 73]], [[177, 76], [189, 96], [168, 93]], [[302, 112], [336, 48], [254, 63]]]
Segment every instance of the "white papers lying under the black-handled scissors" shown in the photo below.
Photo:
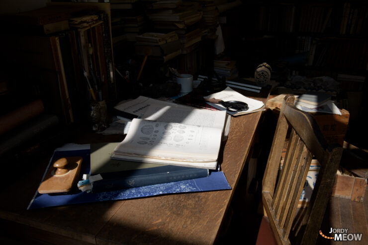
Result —
[[[245, 103], [248, 104], [249, 109], [247, 111], [238, 112], [238, 113], [229, 112], [229, 111], [227, 112], [228, 114], [233, 115], [233, 116], [238, 116], [238, 115], [248, 114], [248, 113], [252, 113], [252, 112], [262, 111], [262, 110], [264, 110], [264, 107], [265, 107], [265, 105], [263, 104], [262, 101], [258, 101], [258, 100], [255, 100], [255, 99], [248, 98], [248, 97], [236, 92], [235, 90], [233, 90], [229, 87], [226, 87], [224, 90], [222, 90], [220, 92], [210, 94], [210, 95], [205, 96], [203, 98], [205, 98], [205, 99], [215, 98], [215, 99], [222, 100], [222, 101], [235, 100], [235, 101], [245, 102]], [[209, 105], [219, 109], [219, 110], [226, 110], [226, 108], [222, 105], [213, 104], [213, 103], [210, 103], [210, 102], [207, 102], [207, 103]]]

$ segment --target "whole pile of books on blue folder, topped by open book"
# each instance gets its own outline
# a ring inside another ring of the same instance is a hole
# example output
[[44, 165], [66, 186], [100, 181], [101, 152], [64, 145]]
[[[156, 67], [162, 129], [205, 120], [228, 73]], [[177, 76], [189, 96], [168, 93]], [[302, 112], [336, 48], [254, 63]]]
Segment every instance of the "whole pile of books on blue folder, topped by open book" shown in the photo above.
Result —
[[133, 119], [122, 142], [91, 144], [91, 185], [86, 187], [92, 192], [205, 178], [218, 169], [229, 126], [225, 111], [143, 96], [119, 103], [115, 110]]

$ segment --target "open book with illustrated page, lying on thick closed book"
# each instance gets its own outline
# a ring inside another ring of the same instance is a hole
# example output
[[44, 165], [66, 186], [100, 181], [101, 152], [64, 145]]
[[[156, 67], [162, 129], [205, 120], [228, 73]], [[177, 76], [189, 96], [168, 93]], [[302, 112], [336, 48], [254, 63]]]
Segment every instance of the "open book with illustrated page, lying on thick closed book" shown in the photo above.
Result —
[[133, 119], [112, 159], [216, 169], [225, 111], [151, 104]]

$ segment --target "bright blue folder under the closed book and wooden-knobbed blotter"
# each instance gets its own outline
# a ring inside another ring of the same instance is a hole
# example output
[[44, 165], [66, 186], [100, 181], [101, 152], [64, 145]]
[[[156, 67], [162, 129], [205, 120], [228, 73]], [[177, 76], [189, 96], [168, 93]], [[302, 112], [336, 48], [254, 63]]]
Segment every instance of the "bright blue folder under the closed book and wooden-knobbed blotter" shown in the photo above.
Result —
[[[82, 156], [81, 176], [90, 173], [90, 145], [69, 144], [55, 150], [49, 167], [55, 159], [61, 157]], [[27, 209], [42, 207], [62, 206], [78, 203], [123, 200], [137, 197], [148, 197], [169, 193], [197, 192], [231, 189], [222, 171], [212, 171], [209, 177], [198, 178], [186, 181], [171, 182], [165, 184], [154, 184], [129, 189], [105, 191], [99, 193], [87, 193], [75, 189], [67, 194], [40, 194], [36, 191]]]

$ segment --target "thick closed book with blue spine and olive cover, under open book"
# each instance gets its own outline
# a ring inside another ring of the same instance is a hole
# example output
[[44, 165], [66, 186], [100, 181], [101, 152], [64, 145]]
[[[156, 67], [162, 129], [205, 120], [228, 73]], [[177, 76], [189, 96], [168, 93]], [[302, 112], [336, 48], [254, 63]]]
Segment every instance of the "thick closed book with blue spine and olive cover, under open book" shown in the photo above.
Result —
[[208, 169], [110, 159], [118, 143], [91, 144], [92, 192], [164, 184], [209, 176]]

